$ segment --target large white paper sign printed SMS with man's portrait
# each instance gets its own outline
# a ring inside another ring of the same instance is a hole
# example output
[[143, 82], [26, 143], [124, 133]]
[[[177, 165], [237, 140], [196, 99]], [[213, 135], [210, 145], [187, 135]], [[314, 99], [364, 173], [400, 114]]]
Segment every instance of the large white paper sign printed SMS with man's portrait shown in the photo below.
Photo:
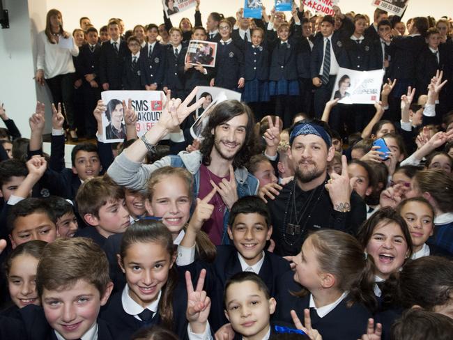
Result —
[[[126, 105], [132, 100], [132, 107], [137, 113], [137, 135], [151, 130], [158, 123], [162, 114], [162, 91], [103, 91], [102, 101], [107, 105], [107, 111], [102, 114], [102, 133], [105, 143], [116, 143], [125, 139], [125, 124], [123, 100]], [[163, 97], [165, 98], [165, 97]], [[165, 137], [164, 139], [167, 139]]]

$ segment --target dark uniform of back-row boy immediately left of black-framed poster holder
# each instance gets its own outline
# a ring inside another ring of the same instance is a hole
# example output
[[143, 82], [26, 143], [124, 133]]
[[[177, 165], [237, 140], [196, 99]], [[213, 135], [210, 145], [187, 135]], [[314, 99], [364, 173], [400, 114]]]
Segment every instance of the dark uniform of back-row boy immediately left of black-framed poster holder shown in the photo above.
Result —
[[165, 68], [163, 87], [171, 90], [172, 98], [185, 99], [184, 59], [187, 47], [180, 44], [178, 47], [167, 45], [165, 50]]

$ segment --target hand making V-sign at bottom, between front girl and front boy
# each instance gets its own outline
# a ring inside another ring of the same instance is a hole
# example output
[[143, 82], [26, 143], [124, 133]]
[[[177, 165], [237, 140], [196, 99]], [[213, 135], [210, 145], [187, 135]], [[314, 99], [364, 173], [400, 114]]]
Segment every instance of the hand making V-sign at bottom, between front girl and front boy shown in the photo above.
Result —
[[194, 333], [203, 333], [206, 328], [210, 311], [210, 298], [203, 290], [206, 270], [202, 269], [197, 281], [197, 288], [194, 290], [190, 272], [185, 272], [185, 286], [187, 288], [187, 310], [185, 316], [190, 322]]

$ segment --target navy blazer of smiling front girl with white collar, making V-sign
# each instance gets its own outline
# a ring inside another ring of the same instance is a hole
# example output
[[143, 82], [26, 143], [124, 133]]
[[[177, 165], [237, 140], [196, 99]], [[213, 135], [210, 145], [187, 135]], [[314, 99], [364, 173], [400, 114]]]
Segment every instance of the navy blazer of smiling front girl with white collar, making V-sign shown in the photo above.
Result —
[[[188, 339], [188, 322], [185, 317], [185, 311], [187, 309], [187, 290], [185, 288], [183, 273], [179, 273], [178, 275], [179, 281], [173, 292], [172, 304], [174, 324], [171, 331], [177, 334], [179, 339]], [[115, 293], [109, 298], [109, 302], [102, 307], [100, 316], [113, 326], [112, 330], [114, 330], [114, 334], [116, 334], [118, 339], [130, 339], [132, 334], [141, 327], [144, 327], [144, 323], [124, 311], [121, 302], [122, 293], [122, 291], [118, 291], [118, 293]], [[151, 323], [153, 325], [161, 324], [159, 313], [155, 314]]]

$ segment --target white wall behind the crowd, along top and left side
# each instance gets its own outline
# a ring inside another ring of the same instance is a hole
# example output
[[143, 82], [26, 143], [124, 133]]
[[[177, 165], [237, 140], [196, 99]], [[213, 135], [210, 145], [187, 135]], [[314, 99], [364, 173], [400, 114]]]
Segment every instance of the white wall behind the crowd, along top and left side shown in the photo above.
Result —
[[[47, 105], [47, 132], [49, 132], [50, 109], [46, 89], [36, 86], [33, 80], [35, 72], [36, 33], [45, 27], [47, 10], [58, 8], [63, 13], [63, 24], [67, 31], [79, 26], [79, 17], [88, 16], [91, 22], [100, 27], [110, 17], [121, 17], [126, 29], [135, 24], [160, 24], [162, 19], [162, 2], [160, 0], [0, 0], [3, 8], [10, 13], [10, 29], [0, 29], [0, 102], [3, 102], [7, 113], [13, 118], [24, 137], [29, 135], [28, 118], [33, 113], [36, 100]], [[263, 0], [270, 10], [272, 0]], [[213, 11], [225, 16], [235, 15], [242, 7], [243, 0], [201, 0], [203, 23]], [[344, 13], [354, 10], [355, 13], [372, 15], [374, 7], [371, 0], [340, 0], [339, 6]], [[441, 17], [453, 15], [452, 0], [430, 0], [429, 8], [425, 0], [410, 0], [405, 19], [417, 15]], [[193, 20], [193, 11], [180, 13], [172, 17], [176, 26], [181, 17]], [[1, 123], [2, 124], [2, 123]]]

